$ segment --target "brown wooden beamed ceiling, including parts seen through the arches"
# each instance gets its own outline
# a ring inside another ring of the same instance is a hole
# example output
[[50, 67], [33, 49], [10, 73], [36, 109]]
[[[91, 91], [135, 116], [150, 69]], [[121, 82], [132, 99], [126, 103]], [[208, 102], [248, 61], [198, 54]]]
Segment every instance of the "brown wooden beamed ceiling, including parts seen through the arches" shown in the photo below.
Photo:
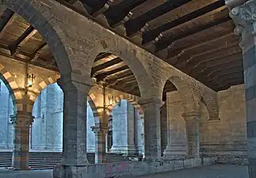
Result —
[[[224, 0], [56, 0], [98, 21], [215, 91], [243, 83], [242, 51]], [[10, 9], [2, 12], [0, 53], [57, 70], [44, 40]], [[128, 66], [100, 53], [91, 71], [98, 82], [140, 95]], [[167, 82], [165, 92], [175, 90]], [[164, 92], [164, 93], [165, 93]]]

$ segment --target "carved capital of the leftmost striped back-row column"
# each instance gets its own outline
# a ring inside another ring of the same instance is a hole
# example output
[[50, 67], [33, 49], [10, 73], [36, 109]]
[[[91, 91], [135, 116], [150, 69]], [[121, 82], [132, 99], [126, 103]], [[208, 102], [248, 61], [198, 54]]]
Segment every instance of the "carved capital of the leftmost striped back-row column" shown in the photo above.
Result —
[[10, 116], [10, 122], [14, 126], [29, 127], [33, 123], [33, 116], [31, 113], [17, 113]]

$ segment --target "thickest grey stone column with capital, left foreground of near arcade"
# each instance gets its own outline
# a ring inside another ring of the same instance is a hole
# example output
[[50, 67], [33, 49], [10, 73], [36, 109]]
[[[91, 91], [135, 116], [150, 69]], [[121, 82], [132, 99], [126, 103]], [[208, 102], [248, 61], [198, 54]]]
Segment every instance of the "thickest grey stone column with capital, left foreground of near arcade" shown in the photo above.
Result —
[[91, 79], [71, 74], [71, 77], [64, 76], [57, 82], [64, 92], [61, 177], [77, 177], [76, 169], [88, 165], [87, 93], [91, 89]]

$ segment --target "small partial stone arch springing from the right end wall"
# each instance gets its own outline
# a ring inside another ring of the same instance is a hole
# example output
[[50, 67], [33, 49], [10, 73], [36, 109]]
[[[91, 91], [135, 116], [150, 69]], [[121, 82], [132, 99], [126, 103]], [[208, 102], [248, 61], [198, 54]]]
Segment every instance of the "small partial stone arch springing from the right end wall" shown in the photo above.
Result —
[[218, 120], [219, 119], [219, 106], [217, 104], [216, 98], [209, 93], [204, 93], [202, 95], [201, 100], [203, 101], [206, 108], [208, 109], [208, 114], [209, 114], [210, 120]]

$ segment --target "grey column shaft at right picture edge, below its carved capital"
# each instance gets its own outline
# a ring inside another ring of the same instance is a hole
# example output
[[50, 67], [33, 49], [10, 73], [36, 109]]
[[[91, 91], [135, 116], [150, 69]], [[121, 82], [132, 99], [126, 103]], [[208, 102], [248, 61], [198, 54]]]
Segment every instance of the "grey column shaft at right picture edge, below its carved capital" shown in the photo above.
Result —
[[244, 81], [246, 89], [247, 154], [250, 177], [256, 177], [256, 49], [243, 51]]

